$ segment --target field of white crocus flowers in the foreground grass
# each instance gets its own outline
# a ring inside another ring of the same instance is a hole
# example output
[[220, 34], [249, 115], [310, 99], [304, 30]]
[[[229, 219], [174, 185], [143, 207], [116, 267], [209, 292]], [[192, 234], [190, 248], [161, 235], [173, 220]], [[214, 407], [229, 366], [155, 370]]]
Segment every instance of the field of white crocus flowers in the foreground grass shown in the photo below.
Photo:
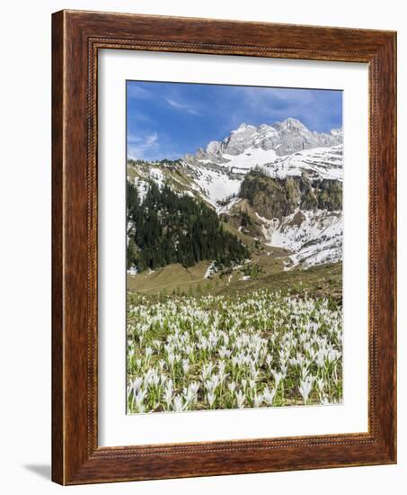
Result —
[[327, 299], [128, 296], [128, 413], [338, 403], [341, 357], [342, 310]]

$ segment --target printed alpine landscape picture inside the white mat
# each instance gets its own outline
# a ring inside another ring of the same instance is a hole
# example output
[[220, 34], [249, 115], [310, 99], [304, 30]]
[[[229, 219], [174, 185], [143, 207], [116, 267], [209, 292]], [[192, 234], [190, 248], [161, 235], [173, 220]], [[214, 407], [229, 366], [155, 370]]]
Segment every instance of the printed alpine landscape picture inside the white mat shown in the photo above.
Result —
[[127, 411], [342, 401], [342, 93], [127, 82]]

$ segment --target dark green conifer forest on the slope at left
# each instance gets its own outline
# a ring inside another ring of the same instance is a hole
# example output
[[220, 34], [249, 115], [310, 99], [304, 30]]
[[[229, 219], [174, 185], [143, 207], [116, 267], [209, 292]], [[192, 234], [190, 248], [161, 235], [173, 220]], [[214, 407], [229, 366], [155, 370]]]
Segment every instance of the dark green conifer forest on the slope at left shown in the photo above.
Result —
[[248, 257], [246, 247], [222, 228], [216, 211], [204, 202], [179, 196], [166, 185], [160, 190], [154, 182], [143, 202], [130, 183], [127, 197], [128, 220], [134, 225], [128, 233], [128, 265], [140, 272], [172, 263], [194, 266], [202, 260], [230, 266]]

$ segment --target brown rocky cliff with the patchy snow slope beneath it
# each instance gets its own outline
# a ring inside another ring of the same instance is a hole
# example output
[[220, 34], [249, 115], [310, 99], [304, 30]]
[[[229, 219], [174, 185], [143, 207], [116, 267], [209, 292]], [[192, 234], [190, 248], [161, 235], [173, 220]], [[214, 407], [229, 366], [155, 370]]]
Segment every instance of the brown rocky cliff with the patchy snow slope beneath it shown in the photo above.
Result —
[[287, 269], [341, 260], [341, 181], [306, 173], [277, 178], [254, 169], [245, 175], [239, 196], [255, 212], [265, 244], [292, 252]]

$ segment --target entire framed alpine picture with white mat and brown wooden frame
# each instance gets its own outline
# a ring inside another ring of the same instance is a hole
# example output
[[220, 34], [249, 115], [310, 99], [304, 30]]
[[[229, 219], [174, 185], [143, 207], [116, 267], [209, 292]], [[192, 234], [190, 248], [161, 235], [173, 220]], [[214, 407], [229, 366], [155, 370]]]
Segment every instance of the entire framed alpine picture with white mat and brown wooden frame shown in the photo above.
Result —
[[396, 37], [53, 14], [52, 477], [396, 462]]

